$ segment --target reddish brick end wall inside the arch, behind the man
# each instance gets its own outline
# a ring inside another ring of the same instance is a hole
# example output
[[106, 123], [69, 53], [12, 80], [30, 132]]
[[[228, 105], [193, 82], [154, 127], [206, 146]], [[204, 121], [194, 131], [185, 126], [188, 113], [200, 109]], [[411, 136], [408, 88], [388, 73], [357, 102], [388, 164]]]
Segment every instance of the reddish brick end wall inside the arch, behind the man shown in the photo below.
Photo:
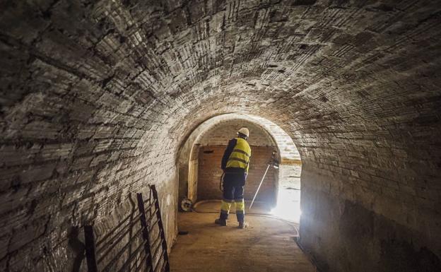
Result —
[[[233, 119], [212, 126], [194, 143], [199, 149], [198, 200], [222, 199], [222, 192], [219, 190], [219, 180], [222, 175], [220, 162], [228, 141], [231, 138], [237, 137], [236, 132], [242, 126], [246, 126], [249, 129], [248, 143], [251, 146], [252, 153], [244, 198], [245, 200], [253, 198], [257, 187], [259, 187], [261, 177], [266, 170], [266, 164], [270, 160], [273, 151], [278, 153], [278, 147], [271, 135], [259, 124], [254, 124], [245, 119]], [[265, 201], [268, 205], [273, 205], [276, 203], [277, 187], [278, 170], [271, 168], [261, 185], [256, 200]]]

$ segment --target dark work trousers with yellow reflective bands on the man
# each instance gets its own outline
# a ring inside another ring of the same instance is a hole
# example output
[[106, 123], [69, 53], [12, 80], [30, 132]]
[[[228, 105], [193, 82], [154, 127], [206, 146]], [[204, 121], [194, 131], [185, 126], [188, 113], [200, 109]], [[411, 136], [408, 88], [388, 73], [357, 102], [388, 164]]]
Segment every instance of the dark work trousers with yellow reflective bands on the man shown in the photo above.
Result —
[[243, 198], [246, 175], [244, 173], [225, 173], [223, 178], [223, 199], [220, 205], [220, 219], [227, 220], [231, 204], [235, 203], [238, 222], [245, 220], [245, 201]]

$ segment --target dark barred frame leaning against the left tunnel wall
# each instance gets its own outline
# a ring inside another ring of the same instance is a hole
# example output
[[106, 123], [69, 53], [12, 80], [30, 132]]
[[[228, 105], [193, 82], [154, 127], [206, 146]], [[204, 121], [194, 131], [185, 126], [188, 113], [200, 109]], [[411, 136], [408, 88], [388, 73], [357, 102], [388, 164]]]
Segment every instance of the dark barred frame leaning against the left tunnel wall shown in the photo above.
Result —
[[[93, 225], [84, 226], [84, 238], [86, 243], [86, 260], [88, 272], [105, 272], [105, 271], [148, 271], [148, 272], [170, 272], [170, 263], [167, 254], [167, 242], [165, 240], [165, 232], [163, 220], [160, 213], [160, 205], [158, 200], [158, 191], [155, 185], [150, 187], [150, 197], [148, 201], [143, 200], [141, 193], [136, 194], [138, 202], [138, 215], [131, 218], [132, 222], [123, 222], [117, 225], [120, 230], [115, 231], [116, 234], [109, 233], [103, 235], [102, 240], [95, 242]], [[147, 206], [146, 206], [147, 204]], [[153, 211], [152, 211], [153, 210]], [[136, 248], [128, 254], [127, 259], [121, 260], [119, 256], [124, 256], [129, 244], [123, 244], [122, 248], [117, 248], [117, 244], [124, 240], [129, 230], [127, 227], [133, 227], [139, 221], [140, 228], [131, 235], [140, 235], [142, 242], [136, 245]], [[152, 223], [153, 221], [153, 223]], [[124, 225], [125, 224], [125, 225]], [[124, 227], [121, 227], [123, 226]], [[110, 241], [105, 241], [110, 240]], [[105, 263], [108, 252], [117, 250], [117, 256]], [[143, 257], [140, 255], [143, 249]], [[98, 252], [104, 252], [97, 258]], [[144, 264], [142, 264], [145, 261]], [[121, 264], [122, 263], [122, 264]], [[141, 263], [141, 264], [140, 264]], [[144, 267], [144, 268], [143, 268]], [[100, 269], [98, 269], [100, 268]]]

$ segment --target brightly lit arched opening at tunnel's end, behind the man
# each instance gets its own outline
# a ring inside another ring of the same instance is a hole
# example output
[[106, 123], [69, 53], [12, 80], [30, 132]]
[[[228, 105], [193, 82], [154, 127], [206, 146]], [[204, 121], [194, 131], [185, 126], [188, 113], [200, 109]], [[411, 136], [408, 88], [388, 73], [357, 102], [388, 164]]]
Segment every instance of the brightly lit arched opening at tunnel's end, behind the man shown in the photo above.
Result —
[[230, 138], [240, 126], [250, 129], [252, 159], [245, 190], [250, 201], [261, 182], [271, 153], [278, 154], [278, 168], [269, 167], [256, 201], [274, 213], [298, 223], [300, 220], [301, 160], [293, 140], [268, 119], [249, 114], [221, 114], [207, 119], [192, 131], [179, 153], [179, 203], [221, 199], [220, 160]]

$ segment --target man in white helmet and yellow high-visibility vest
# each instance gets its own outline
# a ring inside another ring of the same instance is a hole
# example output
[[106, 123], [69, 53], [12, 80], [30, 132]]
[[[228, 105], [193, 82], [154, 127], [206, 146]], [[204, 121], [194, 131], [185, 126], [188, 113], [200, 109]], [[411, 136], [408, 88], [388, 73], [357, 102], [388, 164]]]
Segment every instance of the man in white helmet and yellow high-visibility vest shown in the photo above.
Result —
[[243, 127], [237, 131], [237, 138], [228, 142], [228, 146], [223, 153], [223, 200], [220, 205], [220, 216], [214, 221], [218, 225], [227, 225], [228, 213], [233, 201], [235, 202], [237, 222], [239, 228], [246, 227], [245, 224], [245, 202], [243, 199], [245, 179], [247, 179], [249, 158], [251, 148], [247, 142], [249, 131]]

